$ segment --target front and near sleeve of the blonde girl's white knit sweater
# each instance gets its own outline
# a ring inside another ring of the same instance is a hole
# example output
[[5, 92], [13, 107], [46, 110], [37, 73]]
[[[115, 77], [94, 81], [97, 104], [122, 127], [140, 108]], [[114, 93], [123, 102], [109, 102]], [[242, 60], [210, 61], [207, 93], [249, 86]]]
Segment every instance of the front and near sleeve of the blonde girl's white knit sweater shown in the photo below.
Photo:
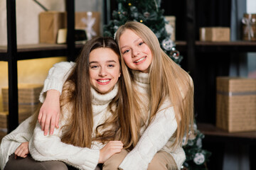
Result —
[[[140, 100], [148, 102], [149, 106], [149, 74], [143, 72], [133, 71], [135, 81], [137, 83], [137, 91], [141, 94], [139, 95]], [[135, 169], [147, 169], [151, 159], [153, 159], [156, 152], [159, 150], [164, 150], [170, 153], [178, 166], [181, 165], [186, 159], [185, 152], [182, 147], [178, 147], [174, 150], [171, 145], [174, 139], [171, 136], [177, 129], [177, 122], [175, 118], [174, 108], [170, 106], [171, 103], [168, 99], [160, 106], [158, 113], [150, 125], [146, 124], [147, 128], [141, 128], [141, 137], [136, 147], [132, 149], [129, 154], [124, 158], [122, 164], [119, 168], [124, 170], [135, 170]], [[143, 111], [143, 109], [142, 109]], [[149, 115], [148, 109], [144, 108], [144, 115]], [[146, 123], [148, 123], [146, 121]]]

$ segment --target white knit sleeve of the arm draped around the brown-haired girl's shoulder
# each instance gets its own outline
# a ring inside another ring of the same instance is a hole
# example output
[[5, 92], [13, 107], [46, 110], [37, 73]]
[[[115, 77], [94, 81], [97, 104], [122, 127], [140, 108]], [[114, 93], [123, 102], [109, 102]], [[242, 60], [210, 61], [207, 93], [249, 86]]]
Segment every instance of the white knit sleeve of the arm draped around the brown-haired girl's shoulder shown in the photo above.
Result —
[[46, 91], [54, 89], [60, 91], [60, 94], [63, 89], [63, 84], [68, 78], [70, 71], [72, 70], [75, 62], [58, 62], [50, 68], [48, 76], [43, 84], [43, 90], [39, 96], [41, 103], [46, 99]]

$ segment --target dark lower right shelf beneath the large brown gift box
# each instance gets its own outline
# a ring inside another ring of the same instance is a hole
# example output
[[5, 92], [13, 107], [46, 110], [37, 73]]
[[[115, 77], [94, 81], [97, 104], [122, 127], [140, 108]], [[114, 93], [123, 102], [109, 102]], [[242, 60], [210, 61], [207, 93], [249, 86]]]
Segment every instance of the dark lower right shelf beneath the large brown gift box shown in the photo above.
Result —
[[208, 142], [242, 142], [256, 145], [256, 131], [227, 132], [208, 123], [198, 123], [198, 130], [206, 136], [204, 140]]

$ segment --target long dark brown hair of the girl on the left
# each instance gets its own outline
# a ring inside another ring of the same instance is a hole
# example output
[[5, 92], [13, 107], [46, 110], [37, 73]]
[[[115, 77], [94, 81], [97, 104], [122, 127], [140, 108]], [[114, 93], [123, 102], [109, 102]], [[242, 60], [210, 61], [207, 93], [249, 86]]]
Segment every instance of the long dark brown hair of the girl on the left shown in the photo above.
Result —
[[[126, 95], [122, 75], [117, 82], [119, 86], [117, 96], [113, 98], [107, 108], [112, 116], [105, 123], [97, 126], [96, 137], [92, 138], [92, 86], [90, 84], [89, 56], [92, 50], [101, 47], [113, 50], [118, 55], [120, 62], [119, 48], [113, 38], [93, 38], [82, 48], [80, 56], [75, 61], [75, 66], [63, 85], [60, 96], [60, 112], [63, 113], [63, 109], [68, 108], [71, 114], [68, 123], [62, 127], [61, 141], [78, 147], [90, 148], [92, 141], [105, 143], [110, 140], [121, 140], [124, 148], [127, 148], [131, 146], [129, 125], [126, 123], [129, 108], [127, 104], [124, 104], [127, 101], [122, 97]], [[37, 116], [35, 116], [35, 120], [36, 118]], [[35, 123], [32, 123], [33, 125]]]

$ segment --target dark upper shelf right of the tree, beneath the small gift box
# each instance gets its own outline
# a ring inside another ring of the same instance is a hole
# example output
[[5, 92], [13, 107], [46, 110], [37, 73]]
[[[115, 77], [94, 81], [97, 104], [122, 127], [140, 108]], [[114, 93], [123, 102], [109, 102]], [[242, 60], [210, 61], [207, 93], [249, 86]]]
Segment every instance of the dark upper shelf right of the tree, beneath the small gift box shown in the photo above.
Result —
[[[176, 48], [186, 51], [185, 41], [176, 41]], [[230, 41], [230, 42], [207, 42], [196, 41], [196, 52], [256, 52], [256, 42], [252, 41]]]

